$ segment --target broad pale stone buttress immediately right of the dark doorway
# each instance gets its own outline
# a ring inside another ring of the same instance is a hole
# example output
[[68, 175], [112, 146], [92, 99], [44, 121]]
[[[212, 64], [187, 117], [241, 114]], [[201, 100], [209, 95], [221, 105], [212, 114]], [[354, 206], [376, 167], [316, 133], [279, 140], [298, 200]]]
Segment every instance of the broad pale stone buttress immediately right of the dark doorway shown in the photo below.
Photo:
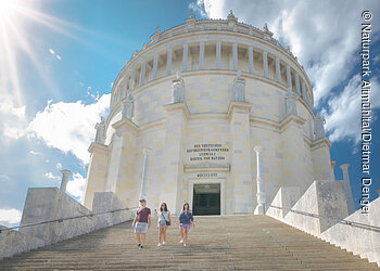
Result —
[[252, 104], [246, 102], [231, 102], [228, 108], [231, 171], [226, 183], [227, 214], [253, 212], [251, 108]]

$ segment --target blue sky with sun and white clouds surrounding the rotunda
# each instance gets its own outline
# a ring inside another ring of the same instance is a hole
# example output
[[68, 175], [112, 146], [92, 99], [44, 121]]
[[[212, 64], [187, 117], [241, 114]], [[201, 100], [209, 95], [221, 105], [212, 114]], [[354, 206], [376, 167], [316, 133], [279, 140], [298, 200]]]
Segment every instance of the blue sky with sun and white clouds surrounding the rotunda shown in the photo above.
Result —
[[360, 197], [360, 14], [371, 21], [371, 199], [380, 189], [377, 116], [380, 4], [376, 1], [117, 1], [0, 0], [0, 223], [20, 221], [29, 186], [58, 186], [60, 170], [73, 177], [77, 201], [86, 179], [94, 125], [109, 114], [112, 82], [160, 26], [225, 18], [262, 28], [299, 57], [312, 80], [315, 112], [322, 111], [333, 142], [331, 157], [349, 169], [356, 208]]

